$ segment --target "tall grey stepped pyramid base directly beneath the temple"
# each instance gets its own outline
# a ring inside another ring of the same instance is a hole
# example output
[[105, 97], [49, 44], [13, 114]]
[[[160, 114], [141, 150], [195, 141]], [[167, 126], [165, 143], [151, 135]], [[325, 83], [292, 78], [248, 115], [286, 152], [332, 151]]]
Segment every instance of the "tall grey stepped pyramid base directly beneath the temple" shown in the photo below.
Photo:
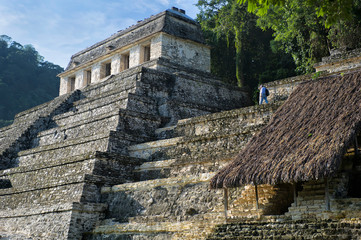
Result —
[[[170, 125], [179, 118], [243, 104], [182, 100], [186, 86], [179, 82], [186, 84], [185, 78], [175, 81], [173, 74], [137, 67], [18, 114], [0, 130], [0, 238], [81, 239], [119, 208], [116, 198], [104, 200], [102, 189], [154, 174], [139, 167], [147, 160], [129, 154], [128, 146], [174, 134]], [[219, 89], [224, 98], [244, 97], [212, 81], [188, 81], [207, 88], [207, 98]], [[136, 216], [130, 211], [129, 217]]]

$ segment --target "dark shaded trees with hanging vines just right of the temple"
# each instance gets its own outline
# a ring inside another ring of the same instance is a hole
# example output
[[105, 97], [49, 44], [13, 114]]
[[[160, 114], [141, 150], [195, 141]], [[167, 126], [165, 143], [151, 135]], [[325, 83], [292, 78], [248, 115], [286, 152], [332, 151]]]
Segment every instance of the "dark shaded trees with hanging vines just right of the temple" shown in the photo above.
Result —
[[279, 51], [273, 31], [236, 0], [199, 0], [197, 16], [211, 49], [212, 73], [224, 82], [256, 90], [260, 83], [295, 74], [290, 54]]

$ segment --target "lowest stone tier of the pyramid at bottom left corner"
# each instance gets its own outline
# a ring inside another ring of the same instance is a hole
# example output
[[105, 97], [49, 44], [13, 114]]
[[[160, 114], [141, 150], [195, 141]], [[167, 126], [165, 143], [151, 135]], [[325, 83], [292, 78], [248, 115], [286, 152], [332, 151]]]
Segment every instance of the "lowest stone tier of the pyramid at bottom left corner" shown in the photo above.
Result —
[[[79, 232], [89, 231], [93, 228], [105, 210], [106, 204], [77, 202], [31, 207], [20, 206], [16, 210], [0, 210], [0, 238], [14, 240], [80, 239]], [[77, 236], [74, 236], [74, 231], [71, 235], [69, 223], [76, 221], [79, 217], [86, 217], [86, 224], [78, 222], [80, 224], [77, 228], [79, 231]], [[46, 224], [49, 219], [54, 219], [52, 227]], [[19, 231], [19, 226], [22, 226], [21, 231]]]

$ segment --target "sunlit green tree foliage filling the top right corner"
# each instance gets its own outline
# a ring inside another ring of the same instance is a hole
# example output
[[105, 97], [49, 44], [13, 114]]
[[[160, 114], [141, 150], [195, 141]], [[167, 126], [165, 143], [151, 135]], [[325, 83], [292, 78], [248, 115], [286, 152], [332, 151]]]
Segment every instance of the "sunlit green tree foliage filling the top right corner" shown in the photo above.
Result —
[[360, 1], [351, 0], [240, 0], [259, 19], [258, 26], [272, 29], [280, 49], [290, 53], [298, 73], [314, 71], [313, 65], [333, 48], [361, 47]]

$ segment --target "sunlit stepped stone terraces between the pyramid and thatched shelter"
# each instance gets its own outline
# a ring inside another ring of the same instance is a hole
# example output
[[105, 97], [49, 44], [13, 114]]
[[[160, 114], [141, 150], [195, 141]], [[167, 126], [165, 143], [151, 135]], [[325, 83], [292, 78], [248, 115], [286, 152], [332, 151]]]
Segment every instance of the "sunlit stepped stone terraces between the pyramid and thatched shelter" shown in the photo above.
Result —
[[144, 161], [136, 181], [102, 188], [106, 218], [85, 239], [204, 239], [225, 221], [223, 192], [209, 179], [280, 104], [179, 120], [157, 129], [159, 140], [129, 146]]

